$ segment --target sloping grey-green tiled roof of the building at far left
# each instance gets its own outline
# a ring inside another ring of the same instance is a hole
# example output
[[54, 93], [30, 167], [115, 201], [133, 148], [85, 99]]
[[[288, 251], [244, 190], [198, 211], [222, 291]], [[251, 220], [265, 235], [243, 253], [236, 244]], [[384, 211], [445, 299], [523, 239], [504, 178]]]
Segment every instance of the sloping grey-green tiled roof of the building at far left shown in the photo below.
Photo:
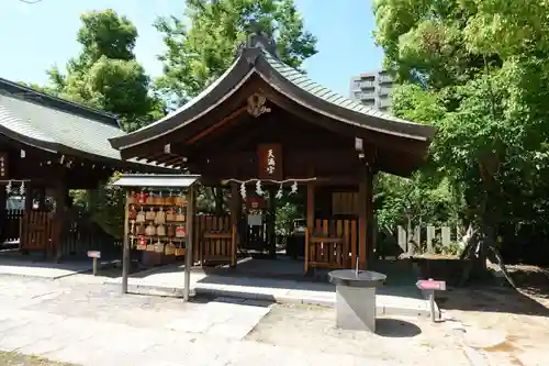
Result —
[[122, 160], [109, 138], [125, 132], [112, 114], [0, 78], [0, 134], [52, 153]]

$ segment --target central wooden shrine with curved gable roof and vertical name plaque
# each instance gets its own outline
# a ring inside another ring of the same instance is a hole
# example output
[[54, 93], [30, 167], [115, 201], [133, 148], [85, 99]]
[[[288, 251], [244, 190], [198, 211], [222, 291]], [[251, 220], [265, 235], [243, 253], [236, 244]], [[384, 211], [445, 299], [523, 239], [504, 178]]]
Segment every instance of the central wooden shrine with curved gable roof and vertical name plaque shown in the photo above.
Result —
[[[366, 268], [373, 176], [408, 176], [423, 164], [434, 134], [432, 126], [315, 84], [255, 35], [208, 90], [158, 123], [110, 142], [123, 158], [184, 167], [201, 176], [201, 185], [231, 189], [229, 210], [211, 220], [216, 230], [238, 225], [242, 203], [256, 189], [270, 197], [306, 191], [306, 271], [357, 262]], [[234, 264], [228, 236], [213, 237], [209, 230], [197, 232], [197, 255]]]

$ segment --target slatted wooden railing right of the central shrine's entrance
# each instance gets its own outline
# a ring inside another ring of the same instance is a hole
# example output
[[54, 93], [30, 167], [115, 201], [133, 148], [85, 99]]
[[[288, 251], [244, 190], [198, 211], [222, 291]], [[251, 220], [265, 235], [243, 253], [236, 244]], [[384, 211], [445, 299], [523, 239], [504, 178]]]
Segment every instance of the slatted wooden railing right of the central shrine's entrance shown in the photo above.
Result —
[[305, 270], [351, 268], [358, 255], [357, 221], [315, 220], [305, 245]]

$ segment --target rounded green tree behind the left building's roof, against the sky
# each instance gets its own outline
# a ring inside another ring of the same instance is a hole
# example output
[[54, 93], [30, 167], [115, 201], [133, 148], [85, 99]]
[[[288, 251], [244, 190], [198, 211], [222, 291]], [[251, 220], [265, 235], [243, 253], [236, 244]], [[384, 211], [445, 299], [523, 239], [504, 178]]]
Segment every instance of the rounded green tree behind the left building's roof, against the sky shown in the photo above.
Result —
[[113, 10], [87, 12], [80, 20], [80, 54], [67, 63], [66, 74], [57, 67], [48, 71], [55, 92], [119, 115], [125, 131], [161, 118], [164, 102], [150, 92], [150, 78], [135, 59], [136, 27]]

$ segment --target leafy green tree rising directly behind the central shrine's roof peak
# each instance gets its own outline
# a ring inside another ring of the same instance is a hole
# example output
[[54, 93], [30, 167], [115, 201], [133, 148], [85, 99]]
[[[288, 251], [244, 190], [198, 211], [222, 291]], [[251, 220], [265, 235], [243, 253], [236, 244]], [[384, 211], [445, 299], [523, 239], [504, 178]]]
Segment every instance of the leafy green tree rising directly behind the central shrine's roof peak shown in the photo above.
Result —
[[220, 77], [255, 26], [276, 40], [282, 60], [293, 67], [316, 53], [316, 38], [304, 30], [293, 0], [187, 0], [184, 15], [155, 24], [167, 46], [157, 88], [177, 104]]

